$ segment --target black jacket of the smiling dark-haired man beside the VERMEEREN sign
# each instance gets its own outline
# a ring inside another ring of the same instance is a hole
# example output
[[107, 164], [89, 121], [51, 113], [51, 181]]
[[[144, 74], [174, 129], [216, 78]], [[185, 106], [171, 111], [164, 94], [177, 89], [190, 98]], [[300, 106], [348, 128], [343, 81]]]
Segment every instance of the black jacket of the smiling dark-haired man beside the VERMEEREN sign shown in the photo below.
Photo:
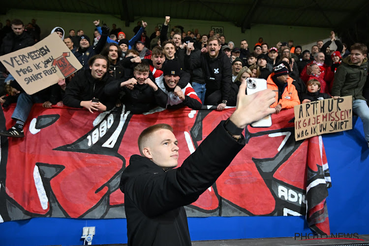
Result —
[[82, 108], [81, 101], [90, 101], [93, 97], [106, 106], [106, 110], [111, 110], [118, 99], [117, 95], [107, 95], [104, 87], [114, 78], [108, 73], [101, 80], [94, 79], [91, 69], [79, 71], [65, 88], [63, 103], [73, 108]]

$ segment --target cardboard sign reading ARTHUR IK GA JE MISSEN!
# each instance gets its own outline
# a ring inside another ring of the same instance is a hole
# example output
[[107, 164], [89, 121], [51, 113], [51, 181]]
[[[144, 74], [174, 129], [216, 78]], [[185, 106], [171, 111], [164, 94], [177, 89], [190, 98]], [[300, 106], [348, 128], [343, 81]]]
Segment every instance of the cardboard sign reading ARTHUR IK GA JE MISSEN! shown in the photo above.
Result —
[[303, 103], [294, 111], [296, 141], [352, 129], [352, 96]]

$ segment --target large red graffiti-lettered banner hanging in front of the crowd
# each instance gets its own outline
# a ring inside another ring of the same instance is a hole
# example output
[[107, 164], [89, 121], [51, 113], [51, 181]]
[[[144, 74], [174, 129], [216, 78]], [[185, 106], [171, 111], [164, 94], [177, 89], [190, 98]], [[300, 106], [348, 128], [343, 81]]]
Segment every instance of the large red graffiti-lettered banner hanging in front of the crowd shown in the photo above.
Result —
[[[1, 129], [14, 122], [14, 106], [0, 112]], [[122, 218], [119, 182], [137, 138], [155, 123], [168, 123], [180, 159], [193, 153], [233, 108], [222, 112], [154, 110], [91, 114], [83, 109], [35, 104], [25, 138], [1, 137], [0, 221], [30, 217]], [[273, 125], [245, 129], [246, 146], [187, 216], [300, 216], [329, 234], [326, 197], [331, 184], [320, 137], [294, 140], [294, 111], [272, 116]]]

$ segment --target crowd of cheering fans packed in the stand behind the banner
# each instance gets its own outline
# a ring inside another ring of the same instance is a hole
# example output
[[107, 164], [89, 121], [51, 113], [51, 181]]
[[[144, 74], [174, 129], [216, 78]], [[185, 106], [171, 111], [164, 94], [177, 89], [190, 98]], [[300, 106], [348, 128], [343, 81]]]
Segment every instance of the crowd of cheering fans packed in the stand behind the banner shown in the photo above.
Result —
[[[226, 41], [214, 31], [201, 35], [181, 26], [182, 32], [170, 31], [169, 22], [166, 16], [161, 31], [155, 28], [147, 36], [147, 23], [140, 21], [129, 40], [115, 24], [110, 30], [105, 24], [100, 27], [98, 20], [93, 22], [92, 39], [83, 30], [69, 30], [68, 35], [62, 27], [54, 28], [52, 32], [58, 33], [83, 69], [32, 95], [0, 64], [6, 78], [0, 102], [3, 107], [17, 103], [12, 115], [15, 125], [0, 135], [24, 137], [33, 103], [46, 108], [84, 107], [92, 113], [123, 104], [134, 114], [157, 106], [199, 110], [214, 105], [221, 111], [236, 105], [244, 80], [261, 78], [276, 92], [272, 105], [276, 114], [300, 103], [352, 95], [353, 112], [364, 123], [369, 146], [369, 108], [363, 96], [365, 86], [369, 87], [366, 45], [355, 43], [349, 50], [332, 31], [328, 42], [318, 40], [311, 50], [303, 51], [293, 40], [273, 46], [263, 38], [249, 47], [246, 39]], [[0, 30], [0, 55], [33, 45], [39, 35], [34, 19], [27, 27], [19, 19], [7, 20]], [[337, 50], [330, 50], [332, 42]]]

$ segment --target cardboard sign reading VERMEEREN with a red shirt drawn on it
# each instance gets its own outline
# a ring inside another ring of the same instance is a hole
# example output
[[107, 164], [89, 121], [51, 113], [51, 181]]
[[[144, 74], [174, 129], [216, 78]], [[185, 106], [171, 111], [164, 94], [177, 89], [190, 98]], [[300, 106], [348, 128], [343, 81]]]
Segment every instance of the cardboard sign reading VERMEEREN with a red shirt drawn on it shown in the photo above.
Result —
[[0, 61], [30, 95], [82, 68], [56, 32], [31, 47], [1, 56]]

